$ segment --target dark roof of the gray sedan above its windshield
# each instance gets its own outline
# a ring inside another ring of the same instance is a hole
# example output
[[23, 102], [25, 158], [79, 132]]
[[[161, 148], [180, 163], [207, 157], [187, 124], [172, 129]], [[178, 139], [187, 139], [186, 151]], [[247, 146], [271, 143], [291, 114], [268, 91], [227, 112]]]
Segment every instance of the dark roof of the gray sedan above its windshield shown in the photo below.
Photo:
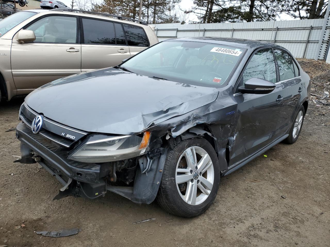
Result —
[[236, 47], [245, 48], [245, 49], [255, 49], [255, 48], [263, 47], [263, 46], [270, 46], [270, 47], [276, 47], [276, 48], [283, 49], [283, 47], [273, 44], [273, 43], [256, 41], [256, 40], [226, 38], [226, 37], [184, 37], [184, 38], [169, 39], [166, 41], [170, 41], [170, 40], [171, 41], [173, 41], [173, 40], [195, 41], [195, 42], [204, 42], [204, 43], [212, 43], [212, 44], [222, 44], [222, 45], [236, 46]]

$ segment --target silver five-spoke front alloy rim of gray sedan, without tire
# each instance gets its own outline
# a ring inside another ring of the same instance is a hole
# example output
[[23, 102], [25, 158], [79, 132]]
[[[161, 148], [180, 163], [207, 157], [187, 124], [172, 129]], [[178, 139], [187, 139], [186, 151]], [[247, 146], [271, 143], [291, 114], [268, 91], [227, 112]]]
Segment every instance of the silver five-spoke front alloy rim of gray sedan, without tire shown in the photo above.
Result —
[[192, 206], [203, 203], [214, 183], [214, 167], [210, 155], [201, 147], [189, 147], [177, 163], [175, 181], [182, 200]]

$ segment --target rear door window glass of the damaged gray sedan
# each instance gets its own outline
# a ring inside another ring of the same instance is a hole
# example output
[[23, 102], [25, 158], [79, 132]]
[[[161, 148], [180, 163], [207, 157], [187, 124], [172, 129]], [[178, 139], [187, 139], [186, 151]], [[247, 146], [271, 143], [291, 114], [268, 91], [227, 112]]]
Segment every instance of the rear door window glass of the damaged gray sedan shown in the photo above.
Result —
[[295, 77], [292, 58], [285, 51], [274, 50], [275, 58], [279, 66], [280, 81]]

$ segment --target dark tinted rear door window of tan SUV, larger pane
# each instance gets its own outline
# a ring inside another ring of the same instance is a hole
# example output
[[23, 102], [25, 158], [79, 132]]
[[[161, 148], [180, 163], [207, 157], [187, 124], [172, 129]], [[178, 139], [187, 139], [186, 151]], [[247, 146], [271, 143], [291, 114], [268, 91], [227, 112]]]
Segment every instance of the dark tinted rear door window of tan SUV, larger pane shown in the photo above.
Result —
[[82, 18], [84, 43], [116, 44], [114, 23]]

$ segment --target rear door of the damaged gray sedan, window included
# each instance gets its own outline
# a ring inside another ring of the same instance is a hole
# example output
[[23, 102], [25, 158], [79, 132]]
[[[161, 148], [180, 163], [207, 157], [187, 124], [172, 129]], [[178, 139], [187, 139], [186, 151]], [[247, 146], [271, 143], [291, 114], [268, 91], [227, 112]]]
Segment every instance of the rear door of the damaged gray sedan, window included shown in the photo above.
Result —
[[299, 76], [299, 70], [293, 58], [285, 51], [274, 49], [275, 59], [279, 70], [278, 87], [281, 87], [281, 115], [277, 122], [277, 129], [284, 133], [292, 123], [293, 117], [298, 110], [300, 92], [303, 81]]

